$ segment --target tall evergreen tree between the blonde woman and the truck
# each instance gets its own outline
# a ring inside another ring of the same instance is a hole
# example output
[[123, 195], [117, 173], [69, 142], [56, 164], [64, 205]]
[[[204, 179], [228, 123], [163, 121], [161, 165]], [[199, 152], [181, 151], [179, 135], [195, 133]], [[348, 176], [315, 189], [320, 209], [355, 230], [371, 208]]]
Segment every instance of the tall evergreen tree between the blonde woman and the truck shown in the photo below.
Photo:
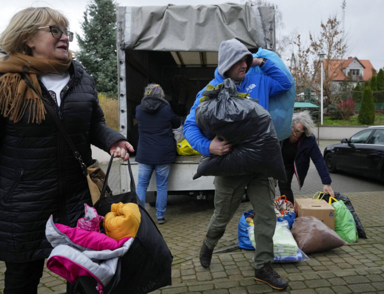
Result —
[[116, 4], [90, 0], [83, 15], [83, 38], [76, 34], [77, 59], [93, 76], [98, 91], [117, 94]]

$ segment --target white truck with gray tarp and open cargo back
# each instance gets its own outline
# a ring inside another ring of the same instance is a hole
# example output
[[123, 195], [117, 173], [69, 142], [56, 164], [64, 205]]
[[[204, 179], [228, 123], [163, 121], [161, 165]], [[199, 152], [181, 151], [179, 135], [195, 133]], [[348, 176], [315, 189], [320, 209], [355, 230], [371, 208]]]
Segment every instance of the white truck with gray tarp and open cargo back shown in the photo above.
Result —
[[[159, 83], [181, 120], [197, 92], [212, 78], [222, 40], [237, 38], [251, 52], [275, 50], [274, 8], [245, 4], [117, 7], [119, 131], [136, 147], [135, 107], [149, 82]], [[141, 146], [142, 147], [142, 146]], [[212, 191], [213, 177], [192, 180], [199, 155], [176, 156], [168, 179], [168, 194], [197, 198]], [[137, 162], [129, 159], [135, 181]], [[120, 192], [129, 190], [127, 165], [120, 162]], [[155, 201], [152, 174], [146, 202]]]

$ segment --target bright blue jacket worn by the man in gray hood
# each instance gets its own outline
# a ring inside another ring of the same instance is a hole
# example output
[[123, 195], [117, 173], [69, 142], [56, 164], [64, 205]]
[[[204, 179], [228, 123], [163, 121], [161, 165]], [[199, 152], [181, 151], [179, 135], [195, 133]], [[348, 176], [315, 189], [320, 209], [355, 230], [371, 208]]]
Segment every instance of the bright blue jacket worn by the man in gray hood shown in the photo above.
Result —
[[[268, 110], [269, 96], [289, 90], [292, 83], [285, 72], [275, 66], [270, 60], [266, 60], [261, 69], [265, 74], [249, 70], [241, 81], [240, 86], [236, 85], [236, 87], [238, 92], [248, 92], [251, 98], [258, 99], [258, 103]], [[216, 86], [223, 82], [223, 80], [224, 78], [218, 73], [216, 68], [214, 71], [214, 79], [212, 79], [209, 84]], [[184, 137], [193, 149], [203, 155], [211, 155], [209, 153], [210, 140], [204, 137], [195, 120], [195, 110], [200, 103], [199, 99], [205, 89], [206, 86], [197, 93], [196, 100], [185, 119], [183, 131]]]

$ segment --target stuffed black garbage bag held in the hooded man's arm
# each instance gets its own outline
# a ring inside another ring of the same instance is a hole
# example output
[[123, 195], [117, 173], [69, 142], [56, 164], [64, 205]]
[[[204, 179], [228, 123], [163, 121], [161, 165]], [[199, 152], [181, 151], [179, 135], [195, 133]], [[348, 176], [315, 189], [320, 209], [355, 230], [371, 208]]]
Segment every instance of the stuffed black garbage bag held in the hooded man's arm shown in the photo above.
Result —
[[205, 136], [217, 135], [234, 145], [231, 152], [222, 156], [202, 155], [193, 179], [201, 175], [261, 172], [286, 180], [281, 148], [268, 111], [256, 100], [244, 97], [244, 93], [237, 93], [231, 79], [203, 95], [205, 100], [196, 108], [197, 125]]

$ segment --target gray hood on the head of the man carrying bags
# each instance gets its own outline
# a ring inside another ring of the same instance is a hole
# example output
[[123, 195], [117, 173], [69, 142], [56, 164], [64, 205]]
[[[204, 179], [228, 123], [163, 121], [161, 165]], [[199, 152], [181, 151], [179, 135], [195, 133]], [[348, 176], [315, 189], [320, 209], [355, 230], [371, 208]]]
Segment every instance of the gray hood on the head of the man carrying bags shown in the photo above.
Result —
[[252, 65], [253, 56], [252, 53], [248, 51], [247, 47], [240, 41], [236, 39], [230, 39], [226, 41], [222, 41], [220, 43], [220, 47], [218, 48], [218, 65], [217, 70], [218, 73], [222, 77], [224, 73], [238, 60], [242, 57], [247, 56], [246, 58], [246, 71], [248, 71], [249, 67]]

